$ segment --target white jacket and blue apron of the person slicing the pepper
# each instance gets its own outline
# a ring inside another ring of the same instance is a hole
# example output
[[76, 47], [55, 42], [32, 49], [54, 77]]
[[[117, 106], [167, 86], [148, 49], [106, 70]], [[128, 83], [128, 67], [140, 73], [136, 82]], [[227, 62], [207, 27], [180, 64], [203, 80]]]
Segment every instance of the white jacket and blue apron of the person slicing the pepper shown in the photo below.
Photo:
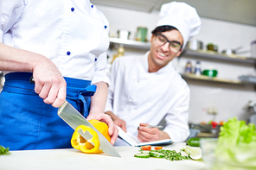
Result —
[[[67, 101], [88, 115], [96, 90], [91, 84], [107, 82], [109, 45], [106, 17], [89, 0], [1, 0], [0, 42], [52, 60], [67, 82]], [[71, 148], [74, 129], [35, 93], [32, 72], [5, 74], [1, 144], [12, 150]]]

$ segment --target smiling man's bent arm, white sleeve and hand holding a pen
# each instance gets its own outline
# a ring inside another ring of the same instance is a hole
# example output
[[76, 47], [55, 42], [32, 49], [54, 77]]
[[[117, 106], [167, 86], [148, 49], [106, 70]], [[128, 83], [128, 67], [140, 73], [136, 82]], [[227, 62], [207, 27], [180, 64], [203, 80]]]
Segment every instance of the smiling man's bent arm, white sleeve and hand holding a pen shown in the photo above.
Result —
[[172, 142], [184, 142], [189, 136], [189, 87], [181, 84], [176, 94], [175, 103], [166, 113], [166, 127], [162, 130], [157, 128], [145, 128], [149, 124], [140, 123], [138, 139], [141, 142], [150, 142], [170, 138]]

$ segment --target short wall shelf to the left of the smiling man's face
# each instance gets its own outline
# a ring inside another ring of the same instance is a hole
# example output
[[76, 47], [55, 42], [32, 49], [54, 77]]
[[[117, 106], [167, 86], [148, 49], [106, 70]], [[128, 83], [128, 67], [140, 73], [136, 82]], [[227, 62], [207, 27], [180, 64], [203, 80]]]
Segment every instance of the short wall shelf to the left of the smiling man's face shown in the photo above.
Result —
[[138, 49], [150, 49], [151, 45], [150, 42], [125, 40], [119, 38], [110, 38], [109, 41], [112, 44], [123, 44], [125, 47], [132, 47]]

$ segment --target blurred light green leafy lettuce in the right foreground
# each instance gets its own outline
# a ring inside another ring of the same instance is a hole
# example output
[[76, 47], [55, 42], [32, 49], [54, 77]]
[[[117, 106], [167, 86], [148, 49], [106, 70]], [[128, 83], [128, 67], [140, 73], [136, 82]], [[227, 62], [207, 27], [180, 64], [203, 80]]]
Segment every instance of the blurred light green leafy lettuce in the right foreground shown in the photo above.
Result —
[[236, 117], [229, 119], [221, 127], [216, 156], [225, 161], [256, 166], [256, 128]]

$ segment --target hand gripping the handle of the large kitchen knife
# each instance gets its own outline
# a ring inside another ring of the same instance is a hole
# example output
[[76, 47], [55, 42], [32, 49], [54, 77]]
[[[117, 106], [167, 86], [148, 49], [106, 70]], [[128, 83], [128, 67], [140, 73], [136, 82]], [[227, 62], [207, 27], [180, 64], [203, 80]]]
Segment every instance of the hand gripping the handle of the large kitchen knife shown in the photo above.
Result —
[[66, 100], [67, 83], [51, 60], [44, 59], [33, 66], [35, 92], [44, 103], [58, 108]]

